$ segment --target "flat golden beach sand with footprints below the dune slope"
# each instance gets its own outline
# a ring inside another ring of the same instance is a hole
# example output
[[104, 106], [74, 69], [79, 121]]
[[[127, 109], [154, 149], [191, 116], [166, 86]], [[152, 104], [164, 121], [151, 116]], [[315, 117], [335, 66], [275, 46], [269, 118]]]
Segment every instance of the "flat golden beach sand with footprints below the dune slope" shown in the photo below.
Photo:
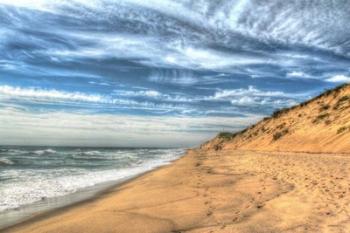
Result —
[[6, 232], [350, 232], [350, 155], [190, 151]]

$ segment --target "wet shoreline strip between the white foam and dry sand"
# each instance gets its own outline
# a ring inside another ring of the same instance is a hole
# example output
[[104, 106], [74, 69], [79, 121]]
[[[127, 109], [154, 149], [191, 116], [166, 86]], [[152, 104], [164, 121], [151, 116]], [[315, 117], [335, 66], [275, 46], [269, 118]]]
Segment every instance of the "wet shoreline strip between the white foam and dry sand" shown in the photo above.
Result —
[[[141, 172], [137, 175], [131, 175], [130, 177], [126, 177], [120, 180], [116, 181], [107, 181], [104, 183], [96, 184], [91, 187], [83, 188], [75, 193], [71, 193], [65, 196], [59, 196], [55, 198], [48, 198], [45, 201], [39, 201], [31, 204], [24, 205], [22, 207], [19, 207], [17, 209], [9, 210], [9, 212], [13, 212], [15, 214], [16, 211], [22, 211], [23, 209], [31, 209], [34, 208], [36, 205], [40, 205], [40, 203], [43, 202], [50, 202], [50, 200], [55, 200], [57, 203], [55, 206], [47, 206], [44, 207], [42, 211], [30, 211], [27, 216], [20, 217], [17, 220], [12, 221], [10, 224], [4, 224], [4, 227], [0, 225], [0, 232], [8, 232], [12, 229], [16, 229], [21, 226], [25, 226], [27, 224], [30, 224], [31, 222], [40, 221], [45, 218], [50, 218], [56, 214], [63, 213], [65, 211], [69, 211], [72, 208], [78, 207], [80, 205], [84, 205], [86, 203], [94, 202], [100, 198], [103, 198], [105, 195], [108, 195], [110, 192], [117, 191], [117, 189], [120, 186], [126, 185], [129, 182], [132, 182], [133, 180], [138, 179], [139, 177], [142, 177], [144, 175], [147, 175], [148, 173], [154, 172], [158, 169], [162, 169], [166, 166], [170, 166], [175, 161], [181, 159], [186, 155], [186, 151], [183, 155], [181, 155], [179, 158], [176, 158], [172, 161], [169, 161], [168, 163], [165, 163], [163, 165], [154, 167], [148, 171]], [[72, 198], [70, 198], [72, 197]], [[61, 199], [61, 200], [60, 200]], [[67, 201], [66, 199], [75, 199], [75, 201]], [[58, 201], [57, 201], [58, 200]], [[6, 215], [6, 211], [2, 213], [3, 215]], [[28, 216], [30, 215], [30, 216]], [[1, 214], [0, 214], [1, 216]], [[10, 220], [11, 222], [11, 220]]]

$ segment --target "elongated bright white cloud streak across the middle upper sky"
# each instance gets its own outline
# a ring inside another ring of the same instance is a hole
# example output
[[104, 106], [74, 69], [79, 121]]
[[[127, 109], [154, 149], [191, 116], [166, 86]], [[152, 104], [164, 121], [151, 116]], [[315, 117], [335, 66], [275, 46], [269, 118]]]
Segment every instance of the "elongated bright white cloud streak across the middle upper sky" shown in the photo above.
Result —
[[[62, 32], [63, 33], [63, 32]], [[66, 32], [65, 36], [93, 44], [75, 50], [48, 49], [45, 55], [58, 60], [77, 58], [142, 58], [138, 62], [154, 67], [225, 70], [230, 67], [274, 62], [269, 58], [224, 53], [206, 47], [179, 44], [178, 39], [162, 40], [152, 36], [116, 33]]]

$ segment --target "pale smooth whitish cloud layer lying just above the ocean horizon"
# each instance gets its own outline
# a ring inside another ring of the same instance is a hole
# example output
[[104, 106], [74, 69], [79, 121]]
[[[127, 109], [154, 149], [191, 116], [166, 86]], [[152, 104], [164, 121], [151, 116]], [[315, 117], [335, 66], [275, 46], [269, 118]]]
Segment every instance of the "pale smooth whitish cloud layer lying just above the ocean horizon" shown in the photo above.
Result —
[[260, 116], [153, 117], [0, 108], [0, 141], [18, 145], [193, 146]]

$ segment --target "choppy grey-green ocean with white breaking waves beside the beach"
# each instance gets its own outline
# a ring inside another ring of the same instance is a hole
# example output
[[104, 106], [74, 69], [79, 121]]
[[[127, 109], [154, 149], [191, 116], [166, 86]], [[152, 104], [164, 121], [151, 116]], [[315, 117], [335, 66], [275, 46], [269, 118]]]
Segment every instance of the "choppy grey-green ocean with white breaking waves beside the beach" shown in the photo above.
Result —
[[[4, 214], [6, 212], [11, 213], [12, 219], [13, 213], [20, 212], [22, 207], [35, 203], [41, 203], [41, 207], [42, 203], [50, 205], [51, 202], [46, 200], [103, 187], [101, 184], [124, 181], [165, 165], [179, 158], [184, 151], [157, 148], [2, 146], [0, 222], [1, 216], [9, 216]], [[40, 208], [42, 209], [50, 208]]]

